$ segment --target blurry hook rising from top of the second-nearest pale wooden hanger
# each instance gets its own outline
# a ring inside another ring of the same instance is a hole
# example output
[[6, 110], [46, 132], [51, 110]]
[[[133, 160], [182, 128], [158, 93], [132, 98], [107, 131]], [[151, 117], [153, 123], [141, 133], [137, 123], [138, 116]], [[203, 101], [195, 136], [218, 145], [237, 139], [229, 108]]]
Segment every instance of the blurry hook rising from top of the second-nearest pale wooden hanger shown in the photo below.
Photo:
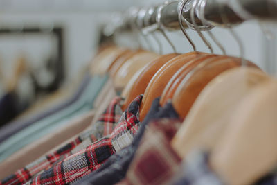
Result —
[[226, 14], [223, 13], [222, 10], [222, 6], [220, 6], [220, 17], [222, 19], [223, 24], [225, 25], [226, 28], [228, 28], [229, 33], [233, 36], [233, 38], [235, 39], [235, 41], [238, 44], [238, 48], [240, 49], [240, 58], [241, 58], [241, 63], [242, 66], [246, 66], [247, 65], [247, 61], [244, 59], [244, 46], [242, 44], [242, 40], [240, 39], [240, 37], [238, 36], [237, 33], [235, 33], [235, 30], [233, 30], [233, 28], [231, 27], [231, 25], [229, 24], [229, 19], [226, 16]]

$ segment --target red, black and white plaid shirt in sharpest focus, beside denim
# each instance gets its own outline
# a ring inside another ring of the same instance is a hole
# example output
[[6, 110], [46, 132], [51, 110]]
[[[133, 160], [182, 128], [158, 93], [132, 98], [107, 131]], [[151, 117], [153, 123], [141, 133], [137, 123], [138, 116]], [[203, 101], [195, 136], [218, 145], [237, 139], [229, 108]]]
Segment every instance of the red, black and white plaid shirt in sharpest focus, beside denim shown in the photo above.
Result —
[[142, 96], [138, 96], [123, 113], [110, 135], [99, 139], [84, 150], [80, 150], [43, 173], [33, 177], [26, 184], [70, 184], [100, 168], [116, 150], [129, 145], [139, 129], [139, 106]]

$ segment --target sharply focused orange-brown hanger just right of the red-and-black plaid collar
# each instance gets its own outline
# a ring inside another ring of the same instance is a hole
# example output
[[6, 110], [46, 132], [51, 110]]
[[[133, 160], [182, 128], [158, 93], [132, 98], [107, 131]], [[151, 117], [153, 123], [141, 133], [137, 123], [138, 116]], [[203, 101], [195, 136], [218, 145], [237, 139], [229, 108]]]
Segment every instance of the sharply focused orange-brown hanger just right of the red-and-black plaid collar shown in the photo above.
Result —
[[146, 114], [148, 113], [154, 98], [161, 96], [163, 89], [166, 87], [168, 81], [174, 75], [174, 73], [178, 71], [178, 69], [184, 64], [186, 64], [186, 62], [189, 62], [190, 60], [193, 60], [197, 57], [201, 57], [202, 55], [208, 55], [208, 53], [190, 52], [178, 55], [177, 57], [172, 58], [172, 60], [166, 62], [166, 64], [164, 64], [163, 67], [161, 67], [161, 69], [159, 69], [159, 71], [154, 74], [148, 84], [148, 87], [145, 89], [141, 103], [141, 121], [143, 121]]

